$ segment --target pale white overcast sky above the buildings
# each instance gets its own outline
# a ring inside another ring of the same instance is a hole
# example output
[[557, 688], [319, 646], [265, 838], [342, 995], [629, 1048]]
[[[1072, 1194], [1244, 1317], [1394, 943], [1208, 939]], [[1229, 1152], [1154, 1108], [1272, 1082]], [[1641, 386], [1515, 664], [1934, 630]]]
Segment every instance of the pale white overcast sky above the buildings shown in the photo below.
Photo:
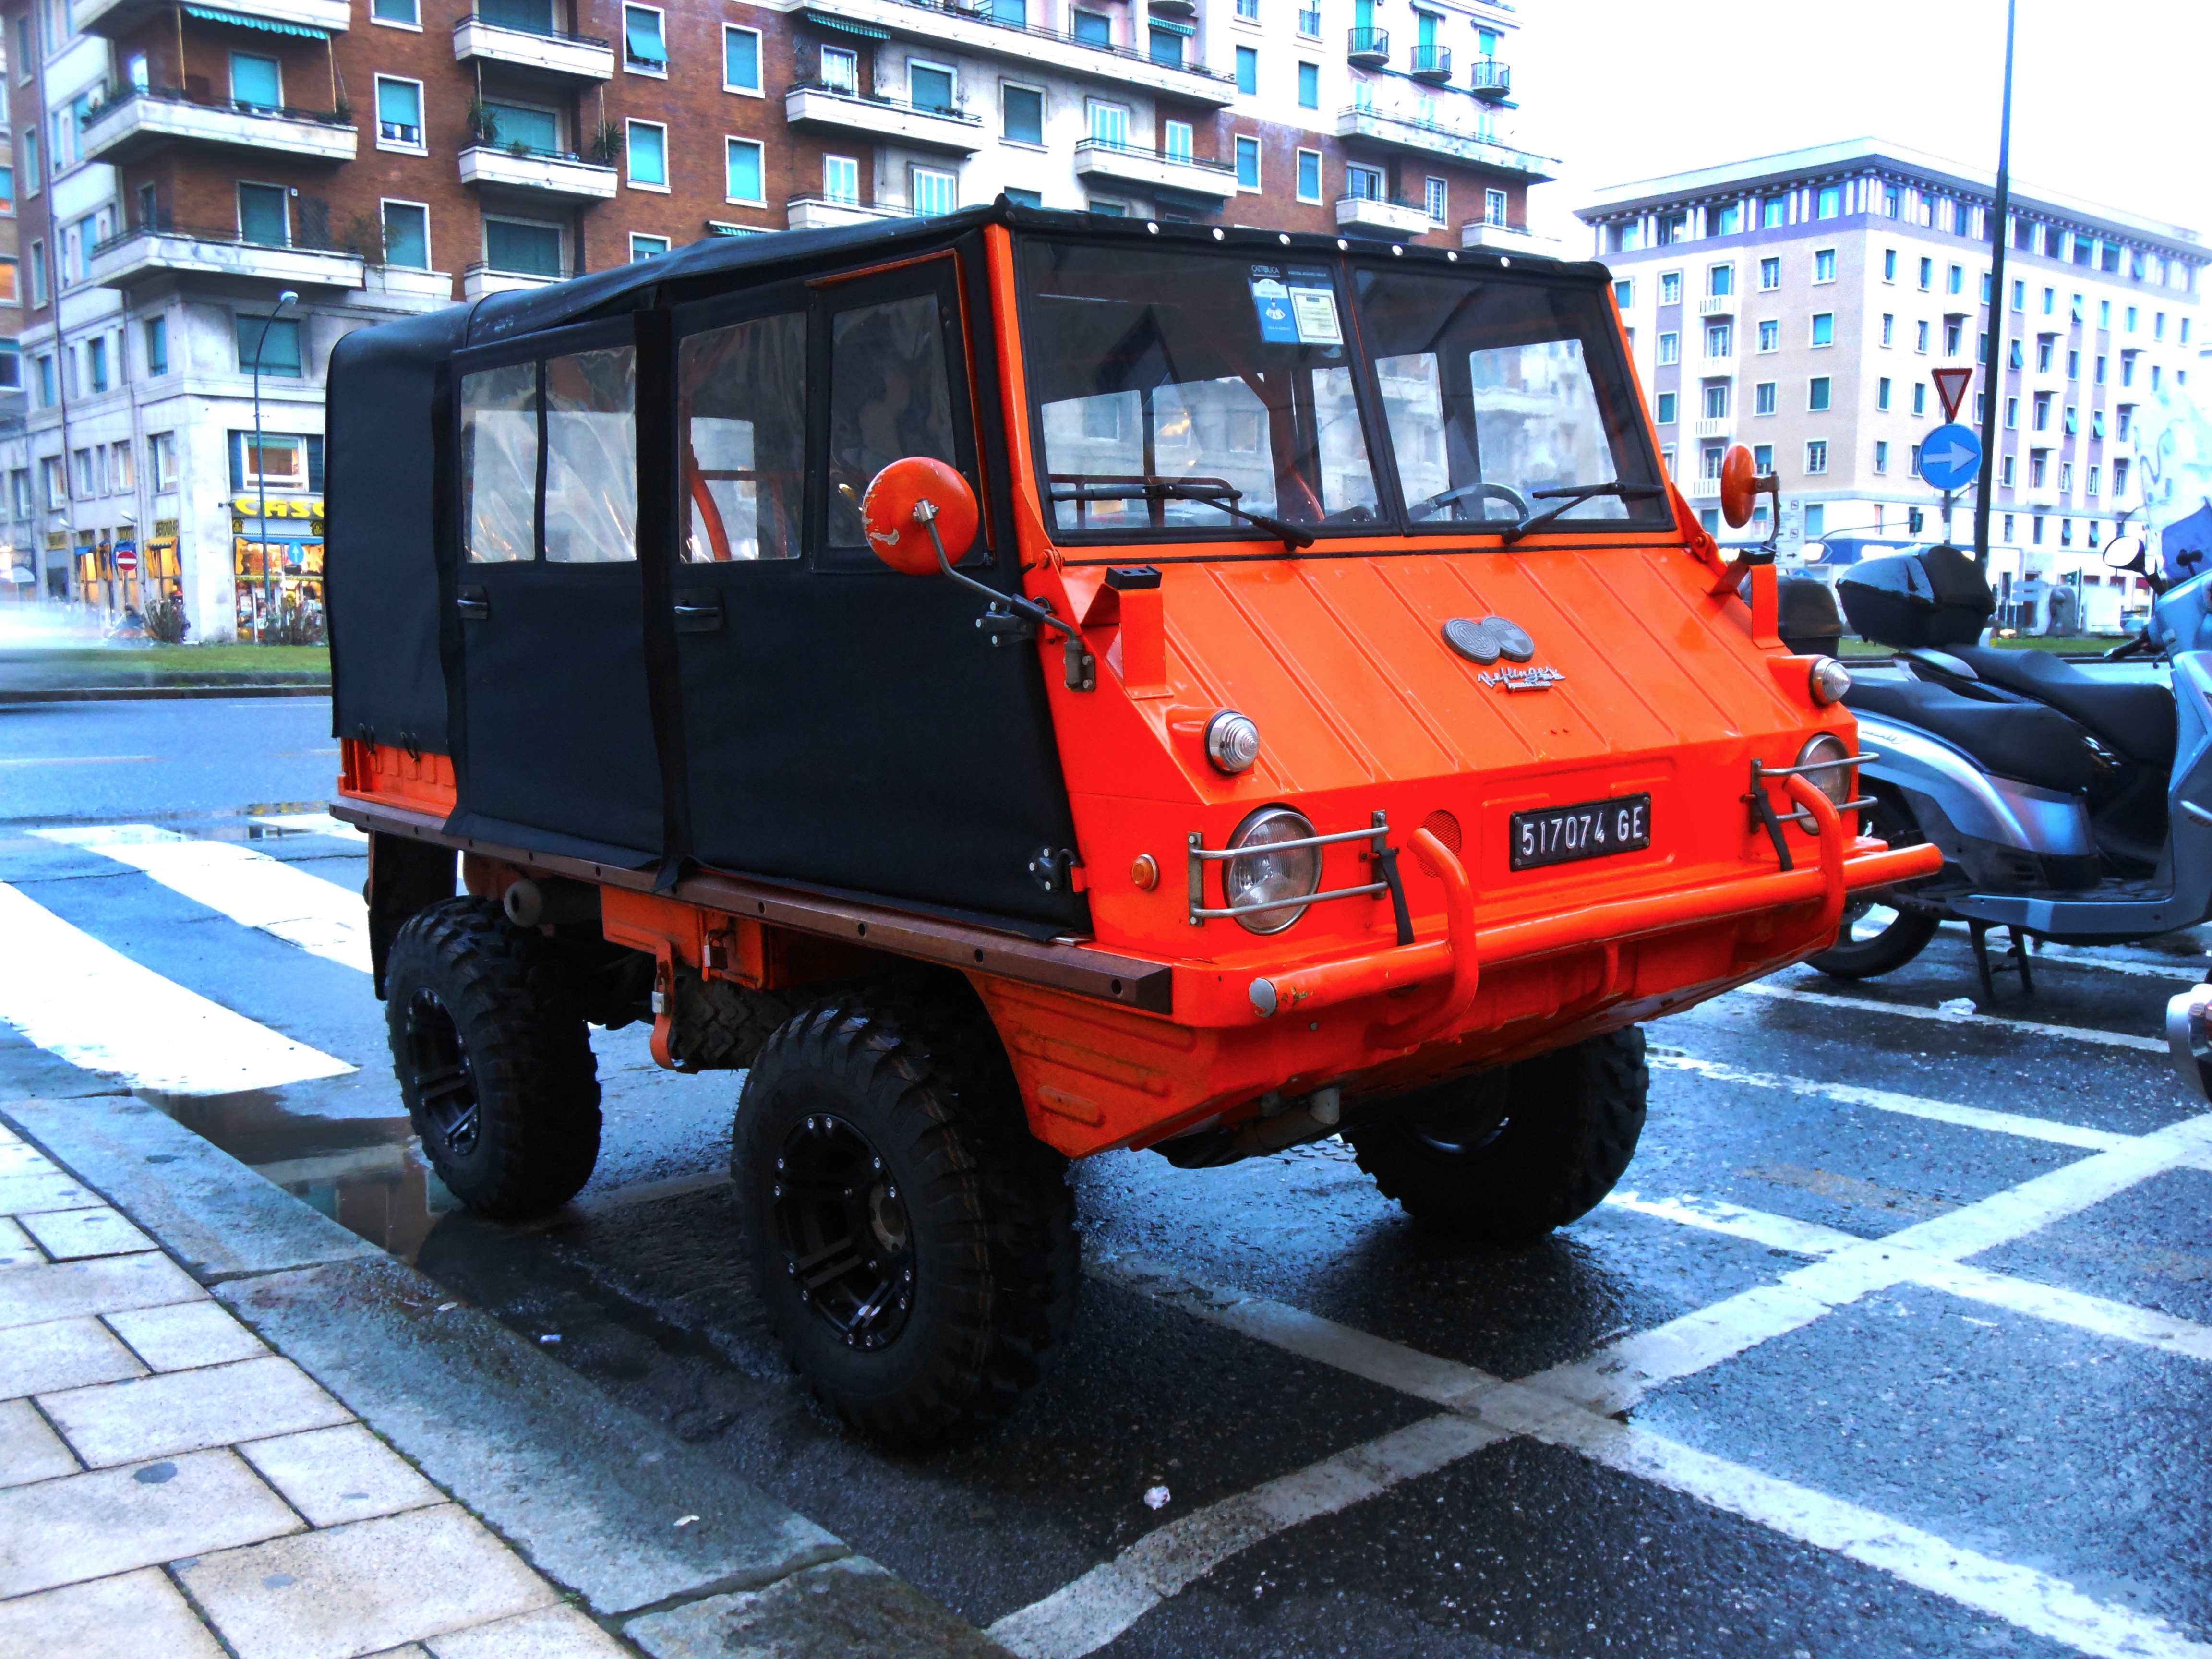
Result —
[[[1517, 0], [1517, 148], [1559, 157], [1531, 228], [1608, 184], [1854, 137], [1997, 166], [2004, 0]], [[2212, 246], [2212, 9], [2020, 0], [2013, 179]]]

